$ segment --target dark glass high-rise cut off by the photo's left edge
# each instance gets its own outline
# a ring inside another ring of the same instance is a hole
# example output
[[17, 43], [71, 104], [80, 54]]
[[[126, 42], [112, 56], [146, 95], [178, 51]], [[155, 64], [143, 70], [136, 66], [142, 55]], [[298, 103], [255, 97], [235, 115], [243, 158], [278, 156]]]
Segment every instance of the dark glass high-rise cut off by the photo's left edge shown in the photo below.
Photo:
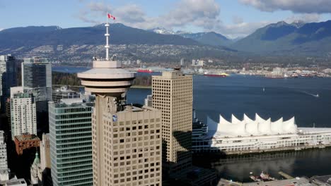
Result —
[[11, 87], [16, 85], [16, 59], [10, 54], [0, 56], [0, 112], [5, 111]]

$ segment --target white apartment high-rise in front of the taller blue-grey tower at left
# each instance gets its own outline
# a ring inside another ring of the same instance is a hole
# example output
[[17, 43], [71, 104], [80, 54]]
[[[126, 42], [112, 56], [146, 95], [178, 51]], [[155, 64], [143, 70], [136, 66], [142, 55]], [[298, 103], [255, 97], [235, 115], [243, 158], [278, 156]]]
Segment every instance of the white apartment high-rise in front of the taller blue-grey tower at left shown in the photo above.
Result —
[[29, 133], [37, 135], [35, 97], [23, 87], [11, 88], [11, 138]]

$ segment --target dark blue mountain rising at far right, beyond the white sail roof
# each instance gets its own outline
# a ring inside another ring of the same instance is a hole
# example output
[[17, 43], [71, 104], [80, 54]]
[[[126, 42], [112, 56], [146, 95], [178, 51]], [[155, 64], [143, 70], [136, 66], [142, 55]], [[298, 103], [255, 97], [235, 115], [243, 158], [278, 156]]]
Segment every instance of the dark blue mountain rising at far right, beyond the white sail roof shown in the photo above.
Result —
[[256, 54], [330, 55], [331, 20], [306, 24], [281, 21], [257, 29], [229, 47]]

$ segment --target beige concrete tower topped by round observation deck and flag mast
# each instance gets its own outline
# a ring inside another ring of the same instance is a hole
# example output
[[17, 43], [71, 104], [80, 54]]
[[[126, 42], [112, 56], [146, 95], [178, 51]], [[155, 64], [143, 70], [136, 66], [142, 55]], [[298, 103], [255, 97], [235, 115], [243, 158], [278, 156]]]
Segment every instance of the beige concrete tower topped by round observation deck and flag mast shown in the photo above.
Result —
[[126, 104], [134, 73], [106, 57], [79, 73], [85, 90], [96, 95], [92, 119], [93, 185], [161, 185], [161, 112]]

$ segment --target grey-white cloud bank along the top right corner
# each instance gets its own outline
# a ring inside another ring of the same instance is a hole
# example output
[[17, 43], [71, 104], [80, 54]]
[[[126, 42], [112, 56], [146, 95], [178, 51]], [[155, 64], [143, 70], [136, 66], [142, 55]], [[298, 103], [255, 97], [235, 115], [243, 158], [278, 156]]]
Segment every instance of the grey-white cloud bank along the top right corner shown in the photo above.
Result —
[[292, 11], [294, 13], [331, 13], [330, 0], [239, 0], [261, 11]]

